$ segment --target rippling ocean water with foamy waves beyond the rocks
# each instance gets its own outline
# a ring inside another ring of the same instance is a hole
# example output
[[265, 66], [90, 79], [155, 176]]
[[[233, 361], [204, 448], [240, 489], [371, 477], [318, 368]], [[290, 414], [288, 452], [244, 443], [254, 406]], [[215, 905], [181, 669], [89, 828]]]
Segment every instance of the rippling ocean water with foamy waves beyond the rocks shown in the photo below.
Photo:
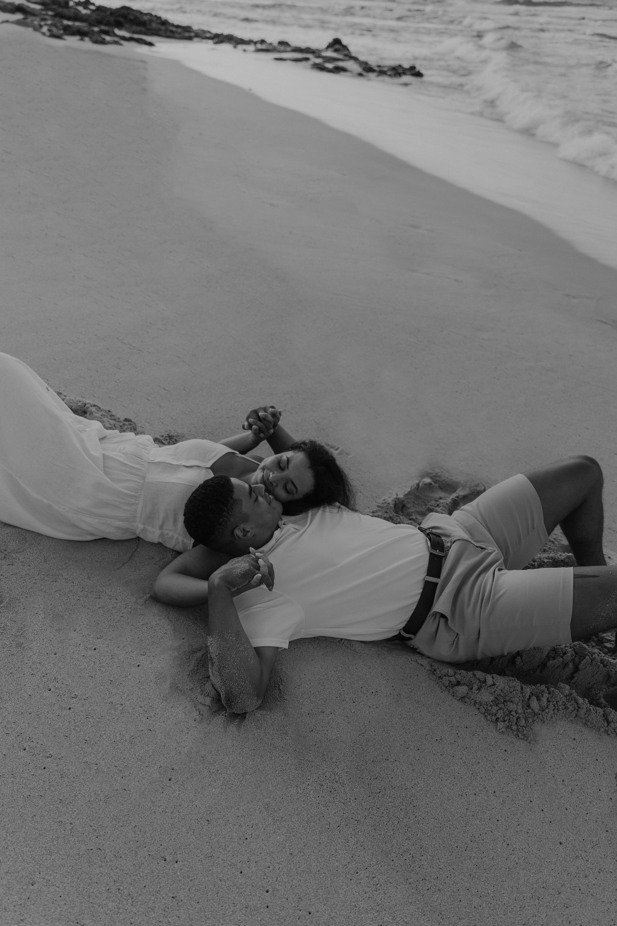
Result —
[[[106, 0], [119, 6], [125, 0]], [[133, 0], [170, 19], [315, 47], [340, 35], [383, 64], [413, 60], [414, 94], [503, 121], [617, 181], [612, 0]], [[580, 11], [580, 12], [579, 12]], [[254, 30], [253, 30], [254, 31]]]

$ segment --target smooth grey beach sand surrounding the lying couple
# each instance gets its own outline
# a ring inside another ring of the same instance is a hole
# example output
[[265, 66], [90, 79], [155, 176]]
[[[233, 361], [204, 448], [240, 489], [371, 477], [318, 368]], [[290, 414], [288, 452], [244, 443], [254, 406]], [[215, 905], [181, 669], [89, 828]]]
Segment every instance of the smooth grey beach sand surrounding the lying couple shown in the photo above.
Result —
[[[156, 434], [276, 401], [365, 508], [431, 464], [490, 483], [586, 451], [614, 548], [613, 271], [133, 51], [2, 26], [0, 107], [3, 350]], [[0, 538], [3, 926], [617, 920], [613, 736], [498, 732], [477, 676], [327, 640], [227, 718], [204, 613], [149, 597], [167, 550]], [[535, 669], [580, 681], [581, 655]]]

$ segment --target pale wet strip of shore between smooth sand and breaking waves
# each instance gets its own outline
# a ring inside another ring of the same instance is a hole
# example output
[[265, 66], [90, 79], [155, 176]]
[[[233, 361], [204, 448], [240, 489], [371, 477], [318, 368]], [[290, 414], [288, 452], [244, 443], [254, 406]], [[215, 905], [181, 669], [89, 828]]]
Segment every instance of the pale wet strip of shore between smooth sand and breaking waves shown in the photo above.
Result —
[[[582, 254], [617, 269], [617, 182], [556, 154], [557, 146], [504, 123], [413, 96], [413, 86], [357, 81], [281, 65], [237, 48], [158, 40], [170, 57], [376, 145], [470, 193], [535, 219]], [[455, 154], [454, 154], [455, 152]], [[563, 191], [567, 190], [567, 196]]]

